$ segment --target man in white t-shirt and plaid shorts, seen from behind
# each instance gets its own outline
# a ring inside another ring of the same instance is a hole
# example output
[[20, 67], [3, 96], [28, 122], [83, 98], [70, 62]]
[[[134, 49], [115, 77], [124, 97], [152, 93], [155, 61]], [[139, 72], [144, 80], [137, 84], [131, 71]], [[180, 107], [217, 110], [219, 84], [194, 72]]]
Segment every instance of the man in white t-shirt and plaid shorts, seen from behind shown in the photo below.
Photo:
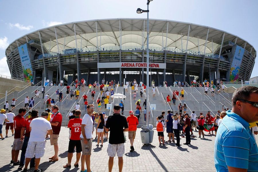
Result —
[[42, 172], [38, 168], [40, 158], [43, 157], [46, 147], [46, 134], [52, 135], [53, 130], [48, 120], [48, 112], [42, 112], [41, 117], [35, 118], [30, 122], [30, 138], [25, 153], [25, 167], [23, 171], [27, 171], [30, 160], [35, 156], [34, 171]]

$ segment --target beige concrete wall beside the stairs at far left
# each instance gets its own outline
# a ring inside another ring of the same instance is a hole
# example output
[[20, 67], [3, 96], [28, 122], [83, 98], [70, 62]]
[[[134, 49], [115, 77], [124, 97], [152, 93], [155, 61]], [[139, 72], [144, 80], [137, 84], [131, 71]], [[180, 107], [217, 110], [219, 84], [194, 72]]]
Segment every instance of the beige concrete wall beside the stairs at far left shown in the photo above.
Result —
[[22, 87], [24, 87], [27, 84], [30, 85], [30, 83], [27, 83], [27, 82], [0, 77], [0, 98], [5, 96], [5, 91], [6, 90], [10, 91], [14, 87], [16, 87], [15, 89], [11, 90], [11, 92], [12, 91], [21, 91]]

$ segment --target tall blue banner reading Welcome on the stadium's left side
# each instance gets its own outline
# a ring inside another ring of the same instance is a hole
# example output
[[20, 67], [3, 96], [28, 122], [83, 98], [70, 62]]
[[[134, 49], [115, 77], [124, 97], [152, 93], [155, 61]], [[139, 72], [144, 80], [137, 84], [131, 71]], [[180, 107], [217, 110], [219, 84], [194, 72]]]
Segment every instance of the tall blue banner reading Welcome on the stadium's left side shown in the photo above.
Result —
[[33, 81], [32, 65], [30, 61], [30, 55], [29, 55], [27, 44], [19, 46], [18, 51], [21, 58], [21, 66], [23, 69], [24, 80], [28, 82], [32, 82]]

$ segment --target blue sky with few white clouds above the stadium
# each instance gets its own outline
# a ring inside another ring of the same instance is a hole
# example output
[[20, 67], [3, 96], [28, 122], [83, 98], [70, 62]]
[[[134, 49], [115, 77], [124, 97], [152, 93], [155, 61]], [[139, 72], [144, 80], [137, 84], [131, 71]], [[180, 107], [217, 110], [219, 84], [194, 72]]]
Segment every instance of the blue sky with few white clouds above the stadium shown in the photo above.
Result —
[[[5, 48], [34, 30], [73, 21], [106, 18], [146, 18], [136, 9], [146, 9], [147, 0], [30, 0], [0, 1], [0, 74], [9, 75]], [[153, 0], [149, 17], [210, 26], [237, 35], [258, 50], [256, 0]], [[258, 76], [258, 60], [251, 77]]]

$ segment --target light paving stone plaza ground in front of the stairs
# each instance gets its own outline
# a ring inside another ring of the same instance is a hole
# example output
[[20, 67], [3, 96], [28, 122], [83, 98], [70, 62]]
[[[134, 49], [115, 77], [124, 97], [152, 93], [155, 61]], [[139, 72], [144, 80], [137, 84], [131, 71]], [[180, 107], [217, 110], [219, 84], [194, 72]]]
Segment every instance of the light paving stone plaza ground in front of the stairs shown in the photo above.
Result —
[[[136, 139], [134, 142], [135, 151], [130, 153], [130, 142], [127, 135], [127, 142], [125, 143], [125, 154], [123, 171], [216, 171], [214, 167], [214, 140], [215, 135], [210, 136], [208, 132], [205, 139], [191, 138], [191, 145], [183, 145], [185, 138], [181, 138], [180, 147], [175, 146], [175, 143], [170, 143], [166, 146], [159, 146], [157, 131], [154, 130], [154, 138], [151, 146], [142, 146], [140, 140], [140, 128], [137, 129]], [[11, 131], [9, 131], [10, 133]], [[4, 133], [4, 127], [3, 127]], [[214, 132], [215, 133], [215, 132]], [[195, 136], [198, 136], [198, 132], [194, 132]], [[81, 168], [81, 161], [79, 162], [79, 168], [74, 166], [71, 169], [64, 169], [63, 165], [67, 163], [67, 150], [69, 142], [69, 129], [62, 127], [60, 137], [58, 138], [59, 145], [59, 161], [48, 162], [48, 158], [54, 155], [54, 147], [50, 146], [50, 140], [47, 140], [46, 151], [44, 157], [40, 160], [39, 168], [46, 172], [68, 172], [79, 171]], [[93, 133], [95, 138], [95, 132]], [[168, 137], [165, 136], [165, 140]], [[258, 136], [256, 135], [256, 140]], [[258, 142], [257, 142], [258, 143]], [[18, 170], [18, 166], [10, 164], [11, 161], [11, 146], [13, 144], [13, 136], [8, 137], [5, 140], [0, 140], [0, 155], [1, 164], [0, 172], [5, 171], [21, 171]], [[91, 155], [91, 170], [93, 172], [108, 171], [108, 155], [107, 145], [108, 141], [105, 141], [103, 148], [97, 148], [96, 140], [93, 140], [92, 155]], [[20, 159], [19, 153], [19, 158]], [[72, 165], [75, 162], [76, 153], [73, 154]], [[86, 165], [85, 165], [86, 167]], [[28, 171], [33, 171], [29, 169]], [[113, 171], [118, 171], [118, 158], [114, 158]]]

